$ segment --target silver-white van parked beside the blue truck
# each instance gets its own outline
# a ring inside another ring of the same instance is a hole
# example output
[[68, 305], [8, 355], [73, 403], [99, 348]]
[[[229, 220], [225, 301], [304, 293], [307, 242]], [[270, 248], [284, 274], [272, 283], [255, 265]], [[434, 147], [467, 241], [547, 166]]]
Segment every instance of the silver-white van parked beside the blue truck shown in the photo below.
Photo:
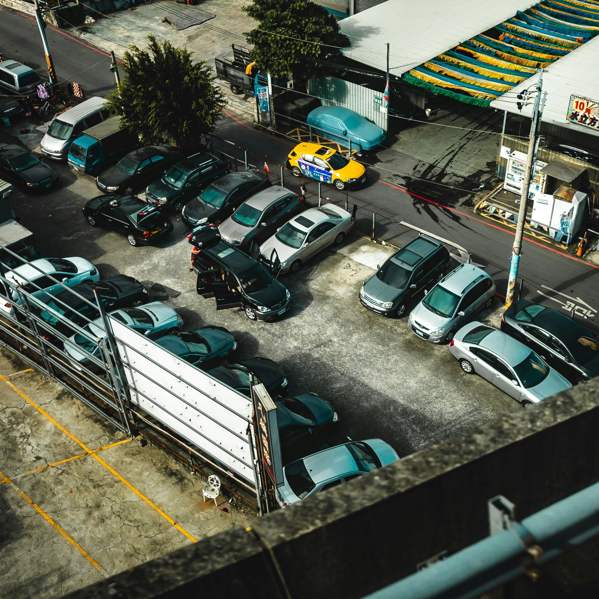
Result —
[[108, 111], [104, 109], [105, 103], [104, 98], [94, 96], [58, 114], [40, 142], [41, 152], [55, 160], [66, 160], [72, 141], [79, 137], [84, 129], [98, 125], [108, 118]]

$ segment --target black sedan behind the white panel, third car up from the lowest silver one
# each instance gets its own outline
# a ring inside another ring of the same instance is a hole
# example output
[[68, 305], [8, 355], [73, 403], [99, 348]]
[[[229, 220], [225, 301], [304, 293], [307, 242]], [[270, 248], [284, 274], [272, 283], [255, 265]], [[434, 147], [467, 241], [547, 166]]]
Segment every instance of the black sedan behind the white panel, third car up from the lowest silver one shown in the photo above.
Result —
[[208, 370], [208, 374], [247, 397], [250, 397], [250, 374], [253, 374], [271, 395], [282, 392], [287, 386], [282, 368], [268, 358], [252, 358], [235, 364], [223, 364]]

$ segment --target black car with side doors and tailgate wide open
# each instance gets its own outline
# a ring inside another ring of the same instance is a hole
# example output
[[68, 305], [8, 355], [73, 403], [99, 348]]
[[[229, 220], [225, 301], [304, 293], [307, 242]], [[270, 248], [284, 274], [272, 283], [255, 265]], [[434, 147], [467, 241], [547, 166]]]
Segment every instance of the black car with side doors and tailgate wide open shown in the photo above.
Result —
[[241, 307], [250, 320], [274, 320], [289, 310], [291, 294], [276, 279], [281, 270], [276, 252], [270, 262], [258, 262], [258, 246], [242, 252], [210, 225], [193, 229], [187, 238], [200, 250], [193, 262], [198, 295], [215, 298], [217, 310]]

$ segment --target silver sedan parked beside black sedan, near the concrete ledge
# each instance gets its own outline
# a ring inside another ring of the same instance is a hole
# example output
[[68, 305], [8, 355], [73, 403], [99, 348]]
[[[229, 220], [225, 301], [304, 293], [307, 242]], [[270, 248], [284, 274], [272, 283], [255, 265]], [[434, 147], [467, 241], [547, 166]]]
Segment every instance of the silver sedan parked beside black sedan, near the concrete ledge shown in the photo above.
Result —
[[571, 387], [530, 348], [482, 322], [462, 326], [449, 352], [465, 373], [479, 374], [524, 407]]

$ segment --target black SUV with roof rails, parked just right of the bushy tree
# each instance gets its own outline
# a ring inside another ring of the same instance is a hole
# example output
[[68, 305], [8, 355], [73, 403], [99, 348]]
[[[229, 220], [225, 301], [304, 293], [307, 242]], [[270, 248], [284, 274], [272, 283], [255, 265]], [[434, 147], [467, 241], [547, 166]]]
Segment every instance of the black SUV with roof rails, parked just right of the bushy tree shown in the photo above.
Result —
[[179, 212], [208, 183], [227, 172], [226, 164], [216, 156], [207, 152], [194, 154], [165, 171], [162, 179], [150, 183], [146, 201]]

